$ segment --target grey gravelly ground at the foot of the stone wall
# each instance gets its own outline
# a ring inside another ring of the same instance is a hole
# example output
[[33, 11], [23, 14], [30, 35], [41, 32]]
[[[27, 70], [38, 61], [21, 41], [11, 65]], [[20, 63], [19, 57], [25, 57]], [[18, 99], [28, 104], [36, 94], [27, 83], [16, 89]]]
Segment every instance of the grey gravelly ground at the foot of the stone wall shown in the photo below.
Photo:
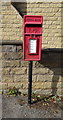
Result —
[[[27, 104], [26, 96], [2, 95], [2, 118], [61, 118], [58, 105]], [[62, 119], [63, 120], [63, 119]]]

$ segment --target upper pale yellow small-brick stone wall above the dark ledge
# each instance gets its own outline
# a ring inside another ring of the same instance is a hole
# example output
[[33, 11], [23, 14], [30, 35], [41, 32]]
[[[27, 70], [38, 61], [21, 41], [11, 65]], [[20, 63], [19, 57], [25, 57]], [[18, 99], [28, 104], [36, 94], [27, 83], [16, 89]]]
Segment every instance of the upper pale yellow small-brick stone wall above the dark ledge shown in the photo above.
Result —
[[[43, 48], [61, 47], [63, 4], [61, 2], [1, 3], [0, 14], [2, 40], [22, 40], [22, 15], [43, 16]], [[19, 10], [19, 12], [16, 9]]]

